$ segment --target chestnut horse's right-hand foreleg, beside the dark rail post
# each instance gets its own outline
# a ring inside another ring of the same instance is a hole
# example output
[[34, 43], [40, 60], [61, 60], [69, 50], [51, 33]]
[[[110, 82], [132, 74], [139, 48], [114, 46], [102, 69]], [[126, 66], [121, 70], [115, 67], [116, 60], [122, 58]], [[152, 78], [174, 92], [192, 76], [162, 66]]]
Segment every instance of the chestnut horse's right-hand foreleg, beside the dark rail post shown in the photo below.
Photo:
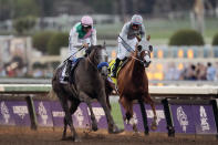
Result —
[[147, 97], [145, 97], [145, 103], [149, 103], [153, 114], [154, 114], [154, 118], [152, 122], [152, 130], [157, 130], [157, 114], [156, 114], [156, 110], [155, 110], [155, 104], [154, 104], [153, 100], [150, 99], [149, 94], [147, 95]]

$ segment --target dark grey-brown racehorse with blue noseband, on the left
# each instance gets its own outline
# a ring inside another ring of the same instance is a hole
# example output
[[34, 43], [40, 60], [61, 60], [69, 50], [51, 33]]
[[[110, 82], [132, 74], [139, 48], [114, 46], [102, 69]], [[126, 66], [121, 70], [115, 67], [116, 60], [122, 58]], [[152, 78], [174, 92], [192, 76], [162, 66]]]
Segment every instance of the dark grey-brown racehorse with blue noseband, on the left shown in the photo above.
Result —
[[[108, 132], [121, 132], [115, 125], [108, 105], [106, 104], [105, 80], [103, 77], [107, 76], [107, 65], [104, 65], [107, 59], [106, 49], [101, 45], [94, 45], [90, 49], [91, 53], [86, 58], [82, 59], [74, 73], [71, 73], [70, 82], [74, 83], [60, 83], [59, 76], [64, 65], [61, 65], [55, 70], [52, 79], [52, 89], [58, 95], [63, 111], [65, 112], [63, 139], [66, 137], [66, 127], [69, 125], [74, 142], [80, 141], [73, 126], [72, 114], [76, 111], [81, 102], [85, 102], [87, 104], [91, 112], [92, 130], [97, 131], [96, 120], [91, 106], [91, 101], [93, 99], [96, 99], [100, 102], [105, 112], [108, 123]], [[68, 104], [69, 101], [71, 103], [70, 106]]]

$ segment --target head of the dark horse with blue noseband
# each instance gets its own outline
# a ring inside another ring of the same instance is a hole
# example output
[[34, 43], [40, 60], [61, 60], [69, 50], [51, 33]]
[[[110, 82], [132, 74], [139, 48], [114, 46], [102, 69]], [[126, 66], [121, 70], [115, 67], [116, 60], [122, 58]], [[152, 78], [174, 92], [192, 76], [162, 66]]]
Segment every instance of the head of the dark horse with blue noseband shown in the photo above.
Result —
[[93, 49], [90, 53], [90, 58], [92, 59], [93, 65], [97, 68], [103, 76], [107, 76], [107, 52], [105, 45], [93, 45]]

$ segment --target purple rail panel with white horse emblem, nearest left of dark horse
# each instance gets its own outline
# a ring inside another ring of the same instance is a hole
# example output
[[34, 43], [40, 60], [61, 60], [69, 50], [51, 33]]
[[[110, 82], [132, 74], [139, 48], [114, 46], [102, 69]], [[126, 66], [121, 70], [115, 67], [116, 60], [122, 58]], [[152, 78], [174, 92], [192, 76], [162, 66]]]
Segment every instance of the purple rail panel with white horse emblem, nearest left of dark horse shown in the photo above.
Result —
[[49, 101], [34, 101], [35, 114], [40, 126], [53, 126]]

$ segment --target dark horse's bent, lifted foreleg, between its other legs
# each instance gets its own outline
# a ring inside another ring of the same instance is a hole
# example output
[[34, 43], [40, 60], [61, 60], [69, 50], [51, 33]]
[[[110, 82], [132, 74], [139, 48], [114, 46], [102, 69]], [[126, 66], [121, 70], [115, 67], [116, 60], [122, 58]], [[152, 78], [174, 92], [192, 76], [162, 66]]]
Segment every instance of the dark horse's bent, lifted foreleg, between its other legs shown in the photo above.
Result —
[[81, 101], [85, 102], [87, 104], [87, 107], [90, 108], [91, 120], [92, 120], [92, 130], [94, 132], [97, 131], [97, 122], [96, 122], [94, 112], [92, 110], [91, 99], [83, 92], [80, 92], [80, 99], [81, 99]]

